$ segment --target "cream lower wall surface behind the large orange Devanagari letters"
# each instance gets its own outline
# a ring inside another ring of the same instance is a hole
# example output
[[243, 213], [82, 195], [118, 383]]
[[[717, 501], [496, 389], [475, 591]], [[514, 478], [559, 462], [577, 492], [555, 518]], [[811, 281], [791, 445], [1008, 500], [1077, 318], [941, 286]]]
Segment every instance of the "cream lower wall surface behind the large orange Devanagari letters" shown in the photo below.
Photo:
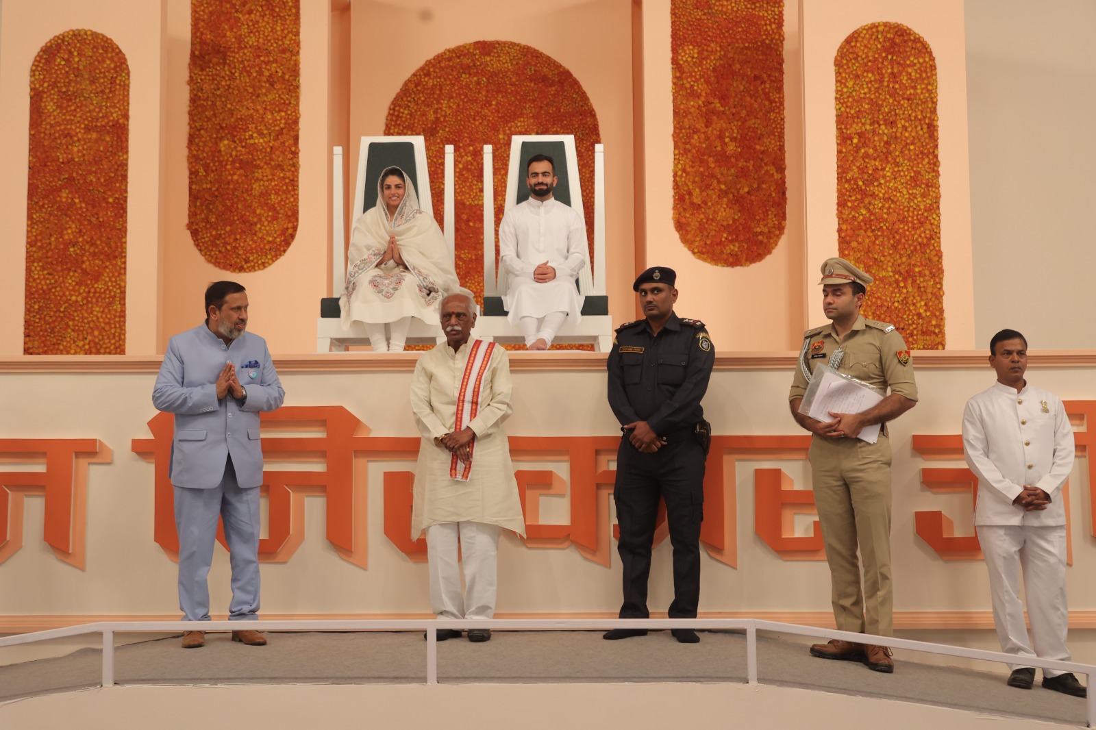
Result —
[[[341, 367], [350, 369], [338, 372], [317, 364], [318, 355], [281, 364], [286, 406], [344, 406], [366, 424], [373, 436], [414, 436], [407, 406], [413, 356], [407, 356], [404, 366], [393, 365], [400, 369], [387, 370], [366, 369], [368, 355], [347, 357]], [[544, 361], [515, 354], [515, 412], [507, 422], [510, 434], [612, 436], [616, 433], [616, 422], [604, 400], [601, 357], [591, 354], [589, 363], [575, 361], [586, 363], [585, 366], [547, 370], [535, 365]], [[922, 367], [917, 376], [924, 398], [893, 426], [891, 541], [895, 623], [900, 628], [913, 624], [924, 629], [954, 628], [957, 620], [968, 626], [979, 621], [984, 625], [990, 609], [984, 567], [979, 561], [945, 561], [914, 533], [917, 510], [944, 510], [955, 521], [957, 534], [973, 532], [969, 494], [934, 494], [920, 479], [923, 467], [962, 466], [961, 460], [926, 461], [913, 453], [911, 436], [959, 432], [966, 399], [992, 383], [992, 372], [980, 360], [951, 358], [937, 361], [945, 367]], [[353, 362], [361, 366], [355, 368]], [[726, 361], [715, 373], [705, 399], [705, 411], [715, 432], [755, 436], [800, 433], [785, 407], [791, 366], [790, 357], [778, 366], [755, 364], [746, 369], [740, 369], [735, 361]], [[43, 502], [41, 498], [27, 498], [24, 547], [0, 566], [0, 572], [5, 584], [35, 588], [0, 592], [0, 617], [8, 617], [4, 620], [36, 615], [169, 618], [176, 615], [174, 564], [152, 540], [152, 466], [130, 452], [132, 440], [148, 437], [145, 422], [156, 414], [148, 401], [156, 367], [156, 360], [148, 360], [134, 362], [132, 368], [137, 372], [129, 373], [9, 372], [0, 378], [0, 402], [10, 412], [24, 414], [19, 436], [100, 438], [114, 454], [111, 464], [90, 467], [85, 570], [59, 561], [41, 541]], [[1065, 399], [1091, 398], [1088, 367], [1040, 366], [1037, 361], [1029, 373], [1031, 381]], [[566, 409], [558, 408], [559, 392], [571, 396]], [[42, 393], [49, 393], [54, 400], [44, 402]], [[71, 408], [73, 402], [80, 402], [80, 408]], [[64, 420], [57, 418], [58, 412], [65, 413]], [[520, 468], [549, 469], [563, 480], [568, 478], [566, 463], [521, 454], [515, 457]], [[730, 466], [728, 459], [724, 463]], [[1096, 539], [1092, 536], [1086, 465], [1084, 458], [1078, 459], [1070, 486], [1074, 567], [1069, 571], [1069, 586], [1071, 609], [1081, 626], [1096, 625], [1096, 585], [1087, 578], [1088, 566], [1096, 558]], [[799, 623], [829, 623], [825, 563], [783, 560], [755, 535], [754, 469], [760, 467], [781, 468], [796, 480], [798, 488], [808, 487], [809, 469], [802, 460], [747, 455], [738, 460], [724, 480], [724, 491], [734, 506], [732, 512], [737, 511], [738, 568], [706, 555], [700, 611], [708, 615], [780, 614]], [[19, 467], [4, 465], [4, 468]], [[285, 468], [320, 467], [292, 463]], [[307, 497], [304, 544], [288, 562], [263, 567], [265, 615], [430, 613], [425, 566], [409, 561], [383, 532], [380, 484], [385, 469], [411, 470], [413, 463], [372, 461], [367, 469], [359, 463], [355, 483], [367, 500], [368, 569], [340, 558], [324, 539], [324, 498]], [[737, 491], [732, 491], [735, 486]], [[540, 505], [543, 522], [568, 522], [568, 497], [545, 497]], [[609, 513], [601, 523], [600, 534], [606, 540], [612, 520]], [[798, 520], [796, 534], [808, 535], [810, 524], [809, 517]], [[499, 613], [612, 615], [619, 603], [619, 562], [612, 543], [608, 545], [610, 560], [608, 567], [603, 567], [584, 558], [574, 547], [533, 549], [506, 535], [500, 548]], [[669, 569], [670, 546], [664, 543], [654, 558], [653, 611], [664, 611], [670, 603]], [[228, 560], [220, 548], [210, 588], [214, 612], [221, 613], [228, 604]], [[980, 618], [957, 619], [949, 612], [959, 612], [960, 616], [963, 612], [980, 612]], [[1077, 659], [1085, 661], [1084, 657]], [[1096, 659], [1096, 654], [1088, 659]]]

